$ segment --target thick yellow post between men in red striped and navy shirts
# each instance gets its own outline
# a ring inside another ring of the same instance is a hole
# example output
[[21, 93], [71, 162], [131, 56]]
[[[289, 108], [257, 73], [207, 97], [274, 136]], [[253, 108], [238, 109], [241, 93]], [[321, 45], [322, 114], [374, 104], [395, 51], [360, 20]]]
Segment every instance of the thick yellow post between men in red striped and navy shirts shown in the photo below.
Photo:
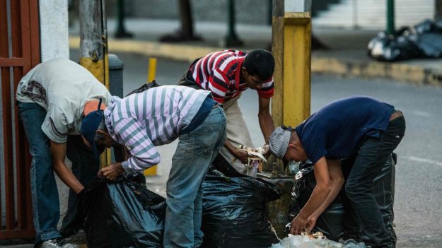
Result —
[[[274, 124], [296, 126], [310, 115], [310, 12], [287, 12], [284, 0], [273, 0], [272, 54], [275, 59]], [[272, 163], [274, 159], [267, 163], [267, 170], [273, 169]], [[281, 172], [281, 161], [278, 165], [277, 170]]]

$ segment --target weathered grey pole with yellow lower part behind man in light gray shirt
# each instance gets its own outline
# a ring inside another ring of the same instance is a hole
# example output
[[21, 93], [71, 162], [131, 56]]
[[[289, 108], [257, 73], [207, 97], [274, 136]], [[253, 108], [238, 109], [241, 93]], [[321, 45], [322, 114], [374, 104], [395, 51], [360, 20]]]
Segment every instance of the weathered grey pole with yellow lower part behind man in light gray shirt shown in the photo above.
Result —
[[[109, 89], [107, 22], [105, 1], [79, 1], [80, 64]], [[110, 164], [110, 150], [100, 157], [102, 167]]]

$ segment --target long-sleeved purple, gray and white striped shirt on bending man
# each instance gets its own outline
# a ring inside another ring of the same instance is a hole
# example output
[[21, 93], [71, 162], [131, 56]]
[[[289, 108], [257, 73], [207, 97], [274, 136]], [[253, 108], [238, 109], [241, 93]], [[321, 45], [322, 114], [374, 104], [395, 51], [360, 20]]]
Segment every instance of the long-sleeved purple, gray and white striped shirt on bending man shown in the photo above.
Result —
[[155, 146], [174, 141], [197, 114], [210, 92], [165, 85], [120, 99], [112, 97], [105, 114], [110, 136], [131, 153], [122, 163], [127, 172], [141, 172], [160, 162]]

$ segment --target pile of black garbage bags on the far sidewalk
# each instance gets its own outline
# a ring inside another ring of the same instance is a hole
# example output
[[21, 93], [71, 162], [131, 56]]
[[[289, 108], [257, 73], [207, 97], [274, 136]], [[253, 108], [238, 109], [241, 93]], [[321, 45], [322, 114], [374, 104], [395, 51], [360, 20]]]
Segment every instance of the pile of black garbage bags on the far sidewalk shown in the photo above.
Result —
[[395, 35], [380, 32], [368, 43], [368, 56], [379, 61], [442, 57], [442, 19], [424, 20]]

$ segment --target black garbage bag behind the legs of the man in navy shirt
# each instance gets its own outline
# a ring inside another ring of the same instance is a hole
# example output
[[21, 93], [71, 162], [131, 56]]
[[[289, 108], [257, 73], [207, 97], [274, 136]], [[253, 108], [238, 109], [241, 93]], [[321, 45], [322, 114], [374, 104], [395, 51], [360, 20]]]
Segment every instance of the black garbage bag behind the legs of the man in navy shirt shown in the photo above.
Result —
[[[353, 159], [342, 160], [341, 162], [342, 172], [345, 179], [347, 179], [349, 172], [351, 171], [351, 165], [353, 165], [353, 162]], [[396, 154], [392, 153], [391, 158], [385, 163], [380, 175], [373, 179], [373, 186], [371, 188], [376, 197], [385, 226], [390, 233], [393, 243], [396, 243], [397, 240], [395, 230], [393, 229], [395, 165]], [[288, 224], [286, 226], [287, 233], [290, 230], [289, 225], [291, 220], [293, 220], [303, 206], [306, 205], [316, 185], [315, 175], [313, 174], [313, 164], [304, 163], [301, 165], [300, 169], [299, 175], [302, 175], [302, 177], [296, 180], [295, 187], [293, 187], [293, 198], [290, 205]], [[352, 234], [361, 237], [362, 240], [366, 240], [357, 220], [349, 220], [350, 218], [353, 218], [354, 215], [349, 213], [349, 208], [346, 207], [346, 203], [348, 203], [347, 196], [342, 190], [339, 192], [335, 201], [333, 201], [324, 213], [320, 215], [313, 231], [323, 232], [329, 240], [339, 240], [339, 238], [343, 237], [344, 232], [351, 232]]]

